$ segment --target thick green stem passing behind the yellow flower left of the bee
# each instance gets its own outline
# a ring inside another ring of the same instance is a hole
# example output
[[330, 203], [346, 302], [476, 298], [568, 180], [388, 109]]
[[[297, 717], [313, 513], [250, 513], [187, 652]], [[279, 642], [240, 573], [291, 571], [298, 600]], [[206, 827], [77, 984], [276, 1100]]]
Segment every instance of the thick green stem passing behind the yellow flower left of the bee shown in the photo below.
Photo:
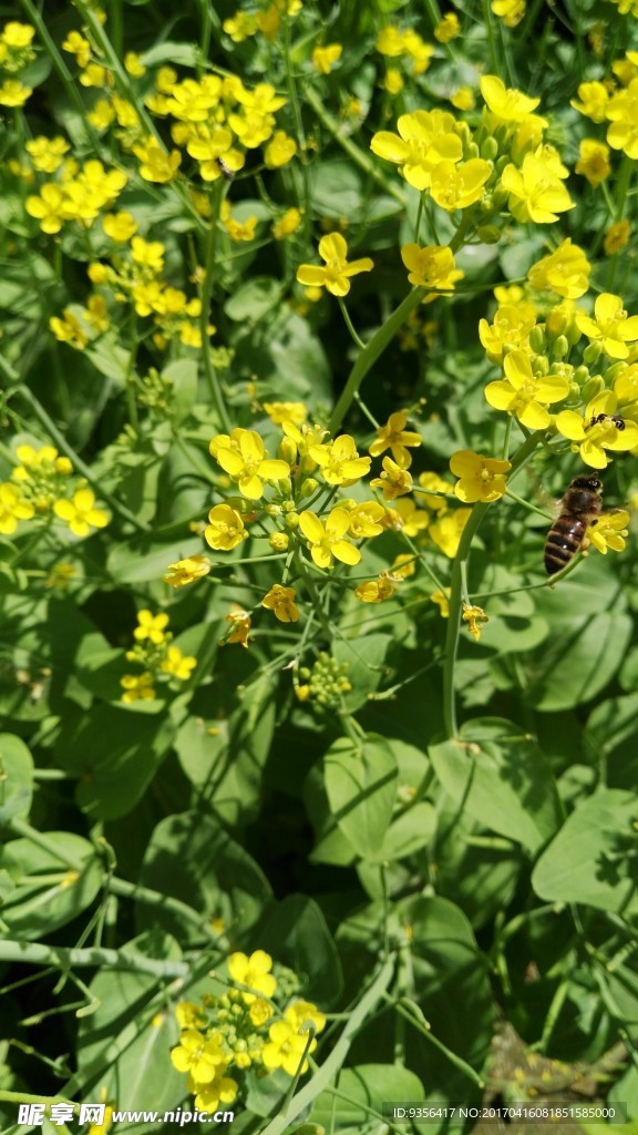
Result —
[[[510, 477], [529, 461], [534, 451], [540, 445], [545, 437], [545, 430], [536, 430], [520, 446], [512, 457], [512, 470]], [[456, 697], [454, 690], [454, 667], [456, 664], [456, 651], [459, 649], [459, 638], [461, 633], [461, 607], [463, 603], [463, 580], [467, 571], [468, 560], [472, 547], [472, 540], [478, 531], [480, 522], [485, 516], [488, 504], [481, 501], [475, 504], [470, 519], [465, 524], [459, 550], [452, 569], [452, 580], [450, 585], [450, 615], [447, 620], [447, 633], [445, 638], [445, 661], [443, 666], [443, 717], [445, 730], [450, 738], [457, 737], [456, 723]]]

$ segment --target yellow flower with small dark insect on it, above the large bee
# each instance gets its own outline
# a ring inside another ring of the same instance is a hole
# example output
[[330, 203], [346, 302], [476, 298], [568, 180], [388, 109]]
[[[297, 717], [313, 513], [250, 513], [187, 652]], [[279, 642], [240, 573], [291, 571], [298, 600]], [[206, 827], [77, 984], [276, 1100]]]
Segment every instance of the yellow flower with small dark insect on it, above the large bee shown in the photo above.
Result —
[[623, 453], [638, 446], [638, 426], [616, 415], [618, 395], [602, 390], [591, 398], [581, 417], [576, 410], [556, 414], [559, 434], [573, 442], [572, 449], [591, 469], [606, 469], [605, 451]]

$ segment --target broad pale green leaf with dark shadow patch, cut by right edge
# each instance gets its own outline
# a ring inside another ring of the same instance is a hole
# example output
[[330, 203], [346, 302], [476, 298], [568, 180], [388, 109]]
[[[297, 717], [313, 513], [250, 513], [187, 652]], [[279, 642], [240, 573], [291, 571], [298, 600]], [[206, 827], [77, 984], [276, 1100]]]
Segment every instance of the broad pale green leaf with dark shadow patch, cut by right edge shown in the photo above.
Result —
[[531, 883], [539, 898], [598, 910], [638, 910], [636, 793], [602, 789], [580, 804], [538, 860]]

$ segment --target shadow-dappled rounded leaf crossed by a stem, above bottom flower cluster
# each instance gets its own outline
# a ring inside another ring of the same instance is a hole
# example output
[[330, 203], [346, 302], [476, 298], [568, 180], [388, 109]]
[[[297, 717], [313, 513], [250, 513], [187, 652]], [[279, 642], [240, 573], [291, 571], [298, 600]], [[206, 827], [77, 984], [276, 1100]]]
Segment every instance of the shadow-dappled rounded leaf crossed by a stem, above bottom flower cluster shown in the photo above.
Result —
[[[216, 822], [196, 812], [168, 816], [156, 827], [142, 864], [141, 883], [186, 900], [202, 918], [223, 918], [237, 940], [259, 919], [271, 898], [254, 859]], [[192, 930], [171, 911], [137, 907], [140, 928], [158, 923], [179, 942]]]

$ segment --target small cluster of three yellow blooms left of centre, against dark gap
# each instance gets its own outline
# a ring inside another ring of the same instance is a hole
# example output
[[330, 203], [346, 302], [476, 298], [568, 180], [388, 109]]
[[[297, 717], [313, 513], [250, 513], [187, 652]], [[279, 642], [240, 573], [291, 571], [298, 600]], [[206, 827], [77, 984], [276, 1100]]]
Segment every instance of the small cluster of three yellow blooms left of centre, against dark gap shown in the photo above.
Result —
[[173, 688], [178, 688], [181, 682], [191, 680], [198, 659], [183, 654], [179, 647], [175, 646], [173, 634], [167, 630], [169, 616], [166, 611], [157, 615], [146, 608], [137, 612], [137, 627], [133, 631], [135, 642], [133, 649], [126, 651], [126, 659], [142, 666], [142, 672], [124, 674], [120, 678], [121, 700], [125, 705], [154, 700], [157, 682], [168, 682]]

